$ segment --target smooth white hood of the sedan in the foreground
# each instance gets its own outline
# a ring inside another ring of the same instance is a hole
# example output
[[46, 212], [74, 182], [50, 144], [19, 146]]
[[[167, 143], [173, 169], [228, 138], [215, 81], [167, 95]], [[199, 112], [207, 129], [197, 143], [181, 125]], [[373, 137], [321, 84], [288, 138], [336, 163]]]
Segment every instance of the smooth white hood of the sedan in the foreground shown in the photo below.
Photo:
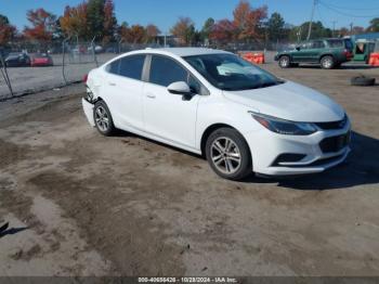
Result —
[[343, 108], [327, 95], [291, 81], [261, 89], [223, 91], [223, 94], [251, 111], [292, 121], [338, 121], [344, 116]]

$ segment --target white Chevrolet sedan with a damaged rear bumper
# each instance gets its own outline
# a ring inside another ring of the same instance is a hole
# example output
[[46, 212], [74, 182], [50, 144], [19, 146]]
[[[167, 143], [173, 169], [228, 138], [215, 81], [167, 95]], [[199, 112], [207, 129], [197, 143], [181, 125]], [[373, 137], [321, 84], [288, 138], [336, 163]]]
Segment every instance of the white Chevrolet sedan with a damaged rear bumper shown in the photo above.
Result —
[[86, 82], [83, 109], [100, 133], [122, 129], [204, 155], [226, 179], [321, 172], [350, 152], [340, 105], [225, 51], [133, 51]]

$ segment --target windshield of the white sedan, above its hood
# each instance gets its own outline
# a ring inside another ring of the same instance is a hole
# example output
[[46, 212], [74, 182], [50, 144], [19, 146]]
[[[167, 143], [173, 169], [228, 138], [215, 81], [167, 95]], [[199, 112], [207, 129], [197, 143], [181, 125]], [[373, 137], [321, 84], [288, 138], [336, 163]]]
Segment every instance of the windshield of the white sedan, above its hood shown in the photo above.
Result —
[[283, 82], [274, 75], [234, 54], [194, 55], [183, 59], [221, 90], [241, 91]]

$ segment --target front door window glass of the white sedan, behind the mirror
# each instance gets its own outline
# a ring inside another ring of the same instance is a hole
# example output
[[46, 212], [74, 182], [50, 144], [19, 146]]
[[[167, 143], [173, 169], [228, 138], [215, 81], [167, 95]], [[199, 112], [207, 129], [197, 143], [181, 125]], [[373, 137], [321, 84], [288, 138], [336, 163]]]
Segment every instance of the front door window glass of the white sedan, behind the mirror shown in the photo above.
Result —
[[153, 55], [149, 82], [168, 87], [175, 81], [187, 82], [188, 72], [171, 59]]

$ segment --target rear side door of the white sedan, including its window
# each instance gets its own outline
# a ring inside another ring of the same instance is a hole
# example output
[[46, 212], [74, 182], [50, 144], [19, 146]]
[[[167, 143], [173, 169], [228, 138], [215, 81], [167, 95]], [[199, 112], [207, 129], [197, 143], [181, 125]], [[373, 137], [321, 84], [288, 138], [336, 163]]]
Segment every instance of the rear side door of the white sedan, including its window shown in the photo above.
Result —
[[143, 130], [142, 74], [145, 54], [127, 55], [107, 66], [107, 98], [116, 127]]

